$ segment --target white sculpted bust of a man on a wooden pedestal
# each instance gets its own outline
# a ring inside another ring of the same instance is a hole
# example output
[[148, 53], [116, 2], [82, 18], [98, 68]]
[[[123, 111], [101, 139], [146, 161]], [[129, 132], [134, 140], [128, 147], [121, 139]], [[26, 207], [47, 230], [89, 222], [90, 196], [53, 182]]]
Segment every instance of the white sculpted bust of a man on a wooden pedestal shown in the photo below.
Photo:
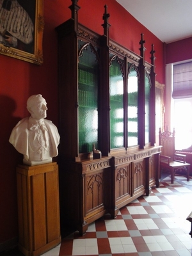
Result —
[[28, 165], [51, 163], [58, 155], [60, 135], [57, 127], [47, 116], [47, 102], [42, 95], [32, 95], [27, 101], [31, 116], [23, 118], [13, 128], [10, 143], [23, 154]]

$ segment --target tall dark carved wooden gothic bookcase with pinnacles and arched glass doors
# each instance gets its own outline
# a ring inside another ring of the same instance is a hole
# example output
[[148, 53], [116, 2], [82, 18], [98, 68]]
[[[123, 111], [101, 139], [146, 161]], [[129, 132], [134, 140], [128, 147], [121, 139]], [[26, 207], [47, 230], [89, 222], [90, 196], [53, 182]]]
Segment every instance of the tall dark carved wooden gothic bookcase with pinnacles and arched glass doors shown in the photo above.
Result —
[[[56, 28], [59, 52], [61, 233], [67, 226], [84, 234], [88, 224], [159, 186], [155, 146], [154, 49], [145, 61], [104, 34], [71, 19]], [[95, 148], [100, 150], [93, 149]], [[93, 154], [93, 150], [95, 154]]]

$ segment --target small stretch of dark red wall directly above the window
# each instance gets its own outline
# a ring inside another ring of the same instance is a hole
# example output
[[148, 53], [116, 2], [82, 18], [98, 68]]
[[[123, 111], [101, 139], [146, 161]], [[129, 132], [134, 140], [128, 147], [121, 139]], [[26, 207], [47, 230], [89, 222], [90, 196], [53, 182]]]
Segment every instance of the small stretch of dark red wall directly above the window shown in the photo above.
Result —
[[192, 36], [166, 45], [166, 64], [192, 59]]

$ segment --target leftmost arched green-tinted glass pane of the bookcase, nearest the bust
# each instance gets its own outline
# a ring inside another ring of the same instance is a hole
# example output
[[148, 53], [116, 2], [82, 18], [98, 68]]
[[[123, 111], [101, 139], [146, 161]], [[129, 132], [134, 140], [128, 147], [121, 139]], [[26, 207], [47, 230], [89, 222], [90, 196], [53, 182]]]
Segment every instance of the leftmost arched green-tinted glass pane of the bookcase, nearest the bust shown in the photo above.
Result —
[[79, 40], [78, 47], [79, 153], [88, 153], [98, 146], [99, 56], [92, 44]]

